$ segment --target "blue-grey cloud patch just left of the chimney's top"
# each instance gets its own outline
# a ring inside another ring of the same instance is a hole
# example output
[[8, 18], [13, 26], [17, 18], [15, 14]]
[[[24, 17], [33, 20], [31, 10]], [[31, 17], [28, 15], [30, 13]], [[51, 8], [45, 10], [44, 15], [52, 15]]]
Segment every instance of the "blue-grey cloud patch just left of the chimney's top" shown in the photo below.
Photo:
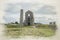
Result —
[[20, 13], [20, 9], [21, 7], [19, 5], [8, 4], [5, 12], [9, 14], [16, 14], [16, 13]]

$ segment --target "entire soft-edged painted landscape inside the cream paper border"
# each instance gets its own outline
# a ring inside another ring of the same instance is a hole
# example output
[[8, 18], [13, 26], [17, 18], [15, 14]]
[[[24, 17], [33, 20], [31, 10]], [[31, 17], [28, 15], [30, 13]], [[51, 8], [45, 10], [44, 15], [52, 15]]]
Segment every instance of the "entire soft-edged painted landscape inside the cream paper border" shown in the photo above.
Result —
[[56, 35], [56, 6], [44, 2], [18, 1], [7, 1], [4, 4], [3, 20], [0, 25], [3, 25], [5, 37], [52, 37]]

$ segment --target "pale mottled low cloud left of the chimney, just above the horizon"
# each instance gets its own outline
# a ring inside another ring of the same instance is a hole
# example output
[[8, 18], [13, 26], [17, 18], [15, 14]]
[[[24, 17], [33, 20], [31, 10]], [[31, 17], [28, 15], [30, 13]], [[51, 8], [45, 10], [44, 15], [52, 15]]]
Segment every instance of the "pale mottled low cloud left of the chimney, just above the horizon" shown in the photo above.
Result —
[[19, 14], [10, 14], [10, 15], [6, 15], [3, 17], [3, 19], [5, 20], [5, 23], [10, 23], [10, 22], [19, 22]]

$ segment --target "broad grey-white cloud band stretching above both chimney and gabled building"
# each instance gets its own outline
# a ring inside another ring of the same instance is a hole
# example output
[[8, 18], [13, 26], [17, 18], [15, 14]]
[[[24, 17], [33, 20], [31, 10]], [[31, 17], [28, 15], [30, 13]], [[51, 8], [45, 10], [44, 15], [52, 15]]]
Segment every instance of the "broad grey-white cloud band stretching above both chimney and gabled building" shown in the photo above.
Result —
[[19, 13], [20, 9], [24, 9], [24, 11], [27, 10], [36, 11], [42, 6], [43, 4], [38, 4], [38, 3], [15, 3], [15, 4], [9, 3], [6, 6], [5, 12], [10, 14], [15, 14], [15, 13]]

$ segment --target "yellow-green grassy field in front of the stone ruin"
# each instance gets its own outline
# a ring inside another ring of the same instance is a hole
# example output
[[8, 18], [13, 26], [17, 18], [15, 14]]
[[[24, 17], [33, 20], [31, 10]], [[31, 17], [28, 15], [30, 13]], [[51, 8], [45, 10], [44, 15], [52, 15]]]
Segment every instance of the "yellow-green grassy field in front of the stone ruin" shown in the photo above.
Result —
[[[32, 26], [26, 27], [12, 27], [11, 25], [7, 25], [5, 30], [5, 35], [12, 36], [12, 37], [19, 37], [19, 36], [42, 36], [42, 37], [50, 37], [55, 35], [55, 30], [50, 28], [33, 28]], [[11, 26], [11, 27], [10, 27]]]

